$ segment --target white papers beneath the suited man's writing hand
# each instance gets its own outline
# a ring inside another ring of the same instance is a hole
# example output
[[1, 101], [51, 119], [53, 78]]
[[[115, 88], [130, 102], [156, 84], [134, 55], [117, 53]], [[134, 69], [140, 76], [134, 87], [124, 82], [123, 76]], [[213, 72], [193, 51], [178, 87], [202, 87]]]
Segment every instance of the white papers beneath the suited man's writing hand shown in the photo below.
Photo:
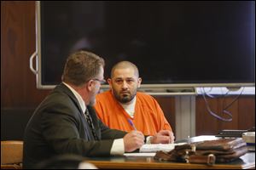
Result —
[[186, 143], [179, 143], [179, 144], [143, 144], [143, 146], [140, 148], [141, 153], [148, 153], [148, 152], [156, 152], [159, 150], [162, 151], [171, 151], [174, 149], [176, 145], [182, 145]]

